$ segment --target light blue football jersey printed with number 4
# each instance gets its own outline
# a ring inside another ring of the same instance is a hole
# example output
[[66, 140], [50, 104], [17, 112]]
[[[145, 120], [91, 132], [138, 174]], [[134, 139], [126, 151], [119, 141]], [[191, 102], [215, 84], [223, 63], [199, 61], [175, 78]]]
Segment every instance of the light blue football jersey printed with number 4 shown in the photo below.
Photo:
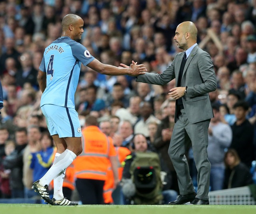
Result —
[[75, 92], [81, 63], [86, 66], [94, 60], [90, 52], [68, 36], [52, 42], [44, 51], [39, 69], [46, 72], [46, 89], [41, 104], [75, 108]]

